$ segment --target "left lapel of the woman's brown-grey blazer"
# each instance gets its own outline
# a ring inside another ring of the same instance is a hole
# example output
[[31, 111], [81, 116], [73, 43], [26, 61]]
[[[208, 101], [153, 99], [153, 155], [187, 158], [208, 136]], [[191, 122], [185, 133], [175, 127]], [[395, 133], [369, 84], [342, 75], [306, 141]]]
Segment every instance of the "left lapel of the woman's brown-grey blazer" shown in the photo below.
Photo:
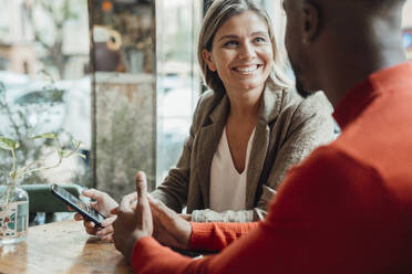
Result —
[[203, 125], [197, 134], [196, 149], [197, 158], [195, 162], [196, 172], [195, 180], [199, 183], [204, 207], [210, 207], [210, 167], [212, 160], [217, 149], [217, 145], [222, 138], [223, 129], [226, 125], [226, 119], [229, 109], [229, 101], [225, 95], [210, 113], [210, 124]]

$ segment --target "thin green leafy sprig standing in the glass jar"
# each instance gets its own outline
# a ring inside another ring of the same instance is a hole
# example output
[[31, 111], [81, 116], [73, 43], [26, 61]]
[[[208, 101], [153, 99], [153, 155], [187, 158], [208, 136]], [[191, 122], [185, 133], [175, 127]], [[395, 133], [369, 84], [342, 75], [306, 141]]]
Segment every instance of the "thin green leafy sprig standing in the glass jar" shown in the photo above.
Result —
[[9, 177], [10, 177], [12, 183], [10, 186], [8, 186], [8, 190], [7, 190], [7, 194], [6, 194], [6, 203], [9, 202], [9, 196], [10, 196], [11, 187], [13, 187], [16, 185], [16, 181], [19, 178], [22, 178], [23, 176], [25, 176], [28, 173], [31, 173], [31, 172], [56, 168], [56, 167], [60, 166], [60, 164], [62, 162], [62, 160], [64, 158], [69, 158], [72, 155], [79, 155], [80, 157], [85, 158], [84, 155], [78, 152], [79, 147], [81, 145], [81, 143], [78, 141], [78, 140], [73, 139], [72, 143], [73, 143], [74, 148], [71, 149], [71, 150], [66, 150], [66, 149], [62, 149], [61, 146], [59, 145], [56, 134], [52, 134], [52, 133], [42, 134], [42, 135], [39, 135], [39, 136], [35, 136], [35, 137], [32, 137], [30, 139], [33, 139], [33, 140], [34, 139], [51, 139], [53, 141], [53, 145], [54, 145], [54, 150], [55, 150], [55, 154], [58, 156], [58, 161], [52, 166], [41, 167], [40, 165], [43, 161], [43, 159], [39, 159], [39, 160], [33, 160], [30, 164], [28, 164], [28, 165], [25, 165], [21, 168], [18, 168], [17, 165], [16, 165], [16, 162], [17, 162], [16, 150], [18, 148], [20, 148], [19, 141], [0, 136], [0, 148], [9, 150], [11, 152], [11, 156], [12, 156], [12, 168], [11, 168], [11, 171], [9, 172]]

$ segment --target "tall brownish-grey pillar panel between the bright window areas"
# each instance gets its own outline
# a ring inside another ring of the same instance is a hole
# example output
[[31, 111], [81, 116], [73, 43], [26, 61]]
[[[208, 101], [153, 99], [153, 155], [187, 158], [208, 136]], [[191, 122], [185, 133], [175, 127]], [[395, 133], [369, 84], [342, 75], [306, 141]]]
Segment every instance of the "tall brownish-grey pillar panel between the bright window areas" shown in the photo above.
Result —
[[120, 200], [155, 181], [154, 1], [89, 0], [95, 187]]

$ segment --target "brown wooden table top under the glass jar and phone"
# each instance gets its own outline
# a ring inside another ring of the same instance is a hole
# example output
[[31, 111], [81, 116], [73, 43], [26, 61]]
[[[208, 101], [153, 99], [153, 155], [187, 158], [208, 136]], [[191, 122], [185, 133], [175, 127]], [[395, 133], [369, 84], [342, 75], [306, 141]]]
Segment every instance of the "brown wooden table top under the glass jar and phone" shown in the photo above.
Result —
[[85, 233], [82, 222], [63, 221], [29, 229], [28, 239], [0, 246], [0, 274], [133, 273], [113, 243]]

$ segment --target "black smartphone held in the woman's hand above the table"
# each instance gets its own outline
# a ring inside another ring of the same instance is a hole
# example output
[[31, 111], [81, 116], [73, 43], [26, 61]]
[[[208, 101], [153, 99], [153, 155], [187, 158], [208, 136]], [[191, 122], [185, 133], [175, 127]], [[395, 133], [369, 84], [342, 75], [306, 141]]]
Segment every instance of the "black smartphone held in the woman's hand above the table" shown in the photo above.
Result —
[[102, 221], [105, 219], [105, 217], [95, 209], [93, 209], [92, 207], [85, 204], [78, 197], [73, 196], [72, 193], [70, 193], [69, 191], [59, 187], [55, 183], [50, 186], [50, 191], [52, 192], [52, 194], [58, 197], [62, 202], [66, 203], [72, 209], [82, 214], [85, 220], [94, 222], [96, 226], [102, 226]]

